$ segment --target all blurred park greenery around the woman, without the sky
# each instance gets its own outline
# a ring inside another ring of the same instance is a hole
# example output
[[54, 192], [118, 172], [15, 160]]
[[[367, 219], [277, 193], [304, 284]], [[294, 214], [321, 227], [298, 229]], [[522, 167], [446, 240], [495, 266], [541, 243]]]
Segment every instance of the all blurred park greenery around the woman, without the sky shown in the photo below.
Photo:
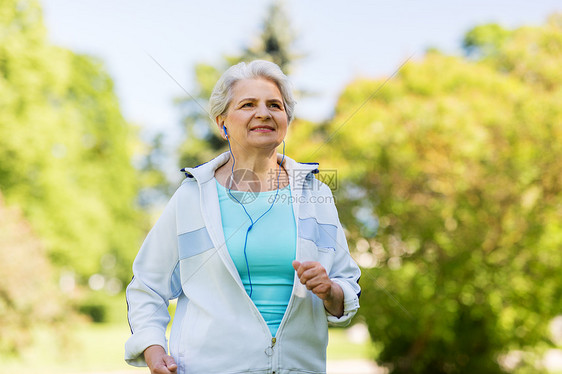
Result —
[[[265, 58], [290, 75], [290, 27], [275, 3], [256, 43], [195, 66], [194, 97], [177, 100], [182, 166], [225, 150], [199, 106], [228, 66]], [[124, 119], [103, 61], [46, 34], [39, 3], [0, 3], [0, 371], [123, 370], [124, 287], [177, 184], [162, 135]], [[475, 25], [461, 47], [356, 79], [332, 118], [290, 127], [291, 157], [337, 171], [363, 268], [370, 339], [334, 330], [330, 358], [562, 372], [562, 15]]]

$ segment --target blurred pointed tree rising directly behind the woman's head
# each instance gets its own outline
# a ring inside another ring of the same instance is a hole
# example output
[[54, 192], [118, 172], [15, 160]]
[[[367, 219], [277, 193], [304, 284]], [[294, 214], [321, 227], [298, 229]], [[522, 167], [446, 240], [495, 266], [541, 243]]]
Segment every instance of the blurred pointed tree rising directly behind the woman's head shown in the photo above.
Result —
[[218, 131], [213, 130], [207, 114], [208, 99], [222, 73], [239, 62], [262, 59], [275, 62], [288, 74], [293, 61], [299, 57], [291, 51], [295, 38], [291, 30], [282, 2], [275, 2], [270, 6], [263, 31], [253, 45], [245, 48], [240, 55], [225, 56], [219, 66], [205, 63], [195, 66], [195, 94], [179, 100], [186, 131], [186, 140], [180, 146], [181, 165], [199, 165], [228, 149]]

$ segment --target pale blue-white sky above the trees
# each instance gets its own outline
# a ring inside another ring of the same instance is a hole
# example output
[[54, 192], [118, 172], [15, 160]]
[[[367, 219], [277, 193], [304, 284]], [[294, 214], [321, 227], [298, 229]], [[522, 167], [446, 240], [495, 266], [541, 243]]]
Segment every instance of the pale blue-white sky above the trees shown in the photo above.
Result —
[[[41, 0], [53, 44], [103, 60], [125, 118], [145, 133], [180, 134], [174, 99], [194, 91], [196, 63], [217, 64], [259, 35], [272, 1]], [[462, 53], [478, 24], [539, 25], [560, 0], [285, 0], [305, 57], [290, 75], [312, 91], [297, 117], [328, 119], [339, 93], [358, 77], [388, 77], [428, 47]]]

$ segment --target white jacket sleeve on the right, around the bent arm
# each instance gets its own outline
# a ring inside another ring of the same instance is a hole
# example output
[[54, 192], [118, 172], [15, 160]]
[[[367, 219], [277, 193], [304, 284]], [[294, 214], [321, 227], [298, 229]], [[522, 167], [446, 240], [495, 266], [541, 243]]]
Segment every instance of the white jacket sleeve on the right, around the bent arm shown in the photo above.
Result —
[[[331, 191], [329, 193], [331, 195]], [[329, 276], [333, 282], [342, 288], [344, 300], [343, 315], [341, 317], [333, 316], [328, 311], [326, 311], [326, 315], [330, 326], [347, 326], [359, 310], [359, 296], [361, 295], [359, 278], [361, 277], [361, 270], [349, 253], [347, 239], [339, 221], [336, 206], [332, 205], [332, 208], [337, 220], [337, 231], [335, 258]]]

